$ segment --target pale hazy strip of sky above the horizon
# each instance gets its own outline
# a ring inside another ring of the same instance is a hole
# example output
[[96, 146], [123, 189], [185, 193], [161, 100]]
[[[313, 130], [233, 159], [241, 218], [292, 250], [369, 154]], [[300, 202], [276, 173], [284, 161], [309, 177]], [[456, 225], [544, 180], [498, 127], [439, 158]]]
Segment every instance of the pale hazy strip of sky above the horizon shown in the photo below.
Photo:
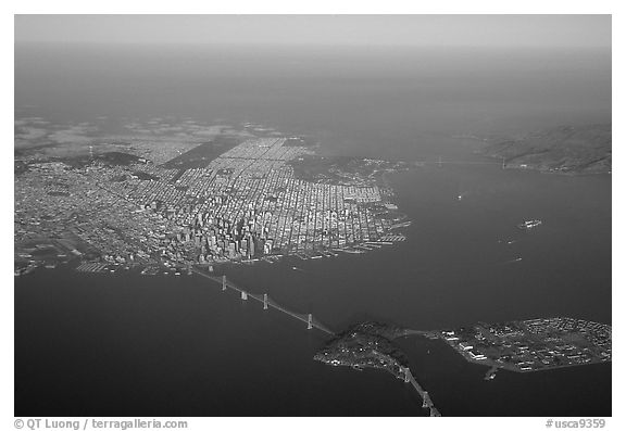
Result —
[[16, 41], [610, 47], [610, 15], [16, 15]]

